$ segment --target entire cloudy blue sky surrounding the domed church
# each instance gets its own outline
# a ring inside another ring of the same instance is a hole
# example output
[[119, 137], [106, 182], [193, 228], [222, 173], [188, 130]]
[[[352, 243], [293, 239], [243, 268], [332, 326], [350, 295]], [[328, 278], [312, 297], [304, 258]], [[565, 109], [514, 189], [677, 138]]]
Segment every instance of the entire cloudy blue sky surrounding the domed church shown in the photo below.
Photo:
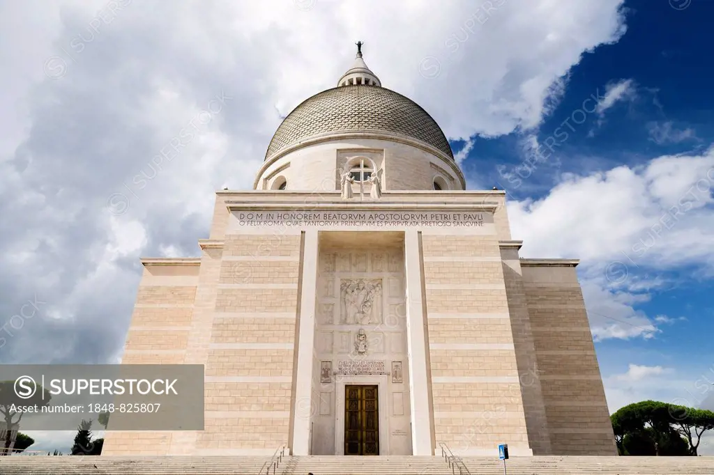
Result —
[[334, 87], [361, 39], [461, 150], [468, 188], [508, 191], [522, 255], [581, 260], [610, 409], [714, 408], [696, 389], [714, 382], [714, 1], [119, 4], [0, 0], [0, 325], [41, 302], [0, 363], [118, 362], [139, 257], [198, 255], [215, 191], [252, 188], [281, 116]]

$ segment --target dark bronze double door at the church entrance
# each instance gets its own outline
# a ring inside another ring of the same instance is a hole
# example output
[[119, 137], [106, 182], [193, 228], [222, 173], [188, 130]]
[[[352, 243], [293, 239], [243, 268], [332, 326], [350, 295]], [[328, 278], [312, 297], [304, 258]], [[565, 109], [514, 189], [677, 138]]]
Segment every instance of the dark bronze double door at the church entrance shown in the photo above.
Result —
[[379, 455], [377, 386], [345, 386], [345, 455]]

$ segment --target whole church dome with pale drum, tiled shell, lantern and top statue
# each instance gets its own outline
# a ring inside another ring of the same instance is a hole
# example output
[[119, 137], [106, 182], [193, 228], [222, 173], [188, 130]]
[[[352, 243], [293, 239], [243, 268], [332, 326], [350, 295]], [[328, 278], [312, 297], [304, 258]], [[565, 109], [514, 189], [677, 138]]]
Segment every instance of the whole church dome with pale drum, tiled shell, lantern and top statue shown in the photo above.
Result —
[[254, 189], [344, 192], [345, 173], [359, 193], [373, 176], [380, 191], [466, 189], [436, 121], [411, 99], [382, 87], [364, 61], [362, 45], [356, 43], [355, 58], [336, 88], [306, 99], [283, 118]]

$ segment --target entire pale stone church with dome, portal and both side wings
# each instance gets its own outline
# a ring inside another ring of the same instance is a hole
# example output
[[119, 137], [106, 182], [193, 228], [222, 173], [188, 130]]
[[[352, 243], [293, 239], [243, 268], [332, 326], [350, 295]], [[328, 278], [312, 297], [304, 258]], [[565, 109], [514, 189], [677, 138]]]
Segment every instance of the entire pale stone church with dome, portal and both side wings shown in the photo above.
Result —
[[216, 193], [201, 257], [142, 260], [122, 362], [205, 365], [205, 429], [104, 454], [616, 455], [578, 261], [519, 257], [505, 193], [360, 46]]

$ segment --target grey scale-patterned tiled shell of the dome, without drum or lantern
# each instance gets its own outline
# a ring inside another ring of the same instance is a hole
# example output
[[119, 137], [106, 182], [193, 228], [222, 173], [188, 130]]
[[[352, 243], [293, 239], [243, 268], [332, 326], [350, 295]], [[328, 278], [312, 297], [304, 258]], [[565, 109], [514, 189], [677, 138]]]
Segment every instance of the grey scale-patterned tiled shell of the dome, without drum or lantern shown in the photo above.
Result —
[[266, 160], [308, 138], [351, 131], [406, 136], [453, 160], [446, 136], [421, 106], [389, 89], [363, 84], [328, 89], [303, 101], [278, 127]]

